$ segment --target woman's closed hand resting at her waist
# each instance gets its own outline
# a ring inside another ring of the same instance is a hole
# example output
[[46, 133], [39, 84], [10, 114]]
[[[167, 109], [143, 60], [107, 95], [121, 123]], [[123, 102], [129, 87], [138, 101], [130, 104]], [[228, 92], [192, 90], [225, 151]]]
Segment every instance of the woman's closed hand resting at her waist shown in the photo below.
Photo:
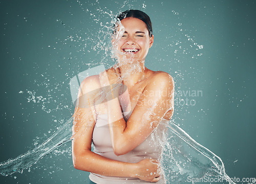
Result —
[[151, 182], [157, 182], [161, 179], [160, 163], [156, 159], [143, 159], [136, 163], [137, 170], [135, 176], [139, 179]]

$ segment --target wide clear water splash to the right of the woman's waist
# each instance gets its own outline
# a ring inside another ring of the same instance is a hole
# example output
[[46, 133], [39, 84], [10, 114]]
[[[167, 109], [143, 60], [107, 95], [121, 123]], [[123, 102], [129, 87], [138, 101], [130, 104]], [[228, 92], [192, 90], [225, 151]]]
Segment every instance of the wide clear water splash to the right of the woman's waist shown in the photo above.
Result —
[[188, 177], [202, 178], [207, 175], [220, 176], [234, 184], [226, 174], [219, 156], [197, 143], [172, 121], [163, 125], [169, 130], [163, 161], [170, 183], [186, 181]]

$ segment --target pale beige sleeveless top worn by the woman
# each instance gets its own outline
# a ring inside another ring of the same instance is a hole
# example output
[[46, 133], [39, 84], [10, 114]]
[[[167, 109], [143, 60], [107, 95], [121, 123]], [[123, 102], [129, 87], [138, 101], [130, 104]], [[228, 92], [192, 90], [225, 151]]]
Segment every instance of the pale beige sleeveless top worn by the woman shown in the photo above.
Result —
[[[123, 112], [124, 120], [127, 122], [132, 112]], [[168, 120], [162, 120], [168, 121]], [[108, 114], [98, 114], [96, 124], [93, 130], [92, 143], [94, 146], [94, 152], [110, 158], [126, 163], [138, 163], [145, 158], [161, 159], [161, 154], [164, 147], [164, 134], [167, 128], [164, 123], [157, 126], [157, 128], [143, 141], [139, 146], [134, 148], [129, 153], [117, 156], [115, 155], [110, 138], [110, 131], [108, 125]], [[97, 184], [122, 184], [122, 183], [152, 183], [133, 177], [115, 177], [104, 176], [95, 173], [90, 173], [89, 178], [91, 181]], [[155, 182], [157, 184], [165, 184], [164, 173], [162, 178]]]

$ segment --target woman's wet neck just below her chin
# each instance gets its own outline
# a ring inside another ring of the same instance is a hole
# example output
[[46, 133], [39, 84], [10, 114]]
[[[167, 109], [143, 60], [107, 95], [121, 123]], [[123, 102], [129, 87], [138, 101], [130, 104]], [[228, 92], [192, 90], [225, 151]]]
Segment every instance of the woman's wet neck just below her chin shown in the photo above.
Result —
[[148, 69], [144, 65], [144, 61], [135, 63], [125, 63], [119, 65], [120, 74], [123, 78], [123, 84], [132, 87], [138, 82], [146, 78]]

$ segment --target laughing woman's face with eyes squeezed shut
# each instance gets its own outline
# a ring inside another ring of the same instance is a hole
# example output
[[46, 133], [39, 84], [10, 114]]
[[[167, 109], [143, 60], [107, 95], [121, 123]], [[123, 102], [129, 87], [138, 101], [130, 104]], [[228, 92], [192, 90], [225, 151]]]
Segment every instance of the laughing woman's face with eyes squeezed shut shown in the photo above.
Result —
[[153, 45], [154, 36], [150, 37], [146, 24], [138, 18], [124, 18], [121, 24], [124, 33], [117, 41], [119, 60], [144, 61], [148, 49]]

